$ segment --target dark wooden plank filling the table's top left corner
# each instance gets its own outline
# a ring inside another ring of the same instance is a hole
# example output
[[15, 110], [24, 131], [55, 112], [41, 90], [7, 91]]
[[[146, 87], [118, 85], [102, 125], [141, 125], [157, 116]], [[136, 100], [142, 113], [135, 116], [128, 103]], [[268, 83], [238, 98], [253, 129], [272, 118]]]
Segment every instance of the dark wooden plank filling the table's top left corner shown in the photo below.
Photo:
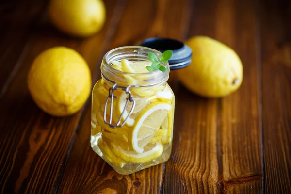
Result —
[[0, 2], [0, 97], [8, 89], [31, 47], [35, 28], [45, 15], [47, 0]]

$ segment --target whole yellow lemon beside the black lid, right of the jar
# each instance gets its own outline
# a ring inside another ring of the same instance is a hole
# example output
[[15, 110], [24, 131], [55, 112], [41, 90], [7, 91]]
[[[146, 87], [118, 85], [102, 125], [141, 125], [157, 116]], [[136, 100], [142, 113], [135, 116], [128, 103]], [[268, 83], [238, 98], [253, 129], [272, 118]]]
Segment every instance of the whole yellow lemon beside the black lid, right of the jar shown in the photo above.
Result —
[[177, 74], [186, 88], [203, 97], [225, 97], [240, 87], [242, 62], [233, 49], [207, 36], [185, 44], [192, 49], [192, 62]]

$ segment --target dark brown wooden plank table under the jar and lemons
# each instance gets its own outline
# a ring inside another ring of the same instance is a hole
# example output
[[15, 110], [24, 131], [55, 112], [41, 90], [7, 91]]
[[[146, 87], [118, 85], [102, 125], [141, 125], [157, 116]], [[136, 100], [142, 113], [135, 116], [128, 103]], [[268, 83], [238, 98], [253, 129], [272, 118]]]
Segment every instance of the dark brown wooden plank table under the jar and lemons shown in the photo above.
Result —
[[[291, 192], [291, 3], [283, 0], [104, 0], [101, 32], [76, 39], [49, 23], [48, 0], [0, 3], [0, 193]], [[148, 37], [207, 35], [233, 48], [243, 81], [220, 99], [198, 97], [175, 71], [173, 151], [168, 162], [117, 174], [90, 147], [90, 99], [68, 117], [32, 101], [26, 77], [37, 54], [76, 49], [93, 83], [110, 49]]]

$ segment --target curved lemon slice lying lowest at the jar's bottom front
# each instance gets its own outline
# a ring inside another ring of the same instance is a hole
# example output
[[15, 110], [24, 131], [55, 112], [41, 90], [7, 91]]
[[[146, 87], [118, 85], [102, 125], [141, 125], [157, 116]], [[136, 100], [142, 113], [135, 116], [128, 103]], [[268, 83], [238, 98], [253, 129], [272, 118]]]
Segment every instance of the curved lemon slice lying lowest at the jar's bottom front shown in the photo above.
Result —
[[162, 155], [163, 146], [161, 142], [149, 143], [144, 147], [144, 152], [141, 154], [135, 151], [124, 150], [120, 146], [111, 143], [113, 153], [129, 163], [146, 163], [150, 162]]

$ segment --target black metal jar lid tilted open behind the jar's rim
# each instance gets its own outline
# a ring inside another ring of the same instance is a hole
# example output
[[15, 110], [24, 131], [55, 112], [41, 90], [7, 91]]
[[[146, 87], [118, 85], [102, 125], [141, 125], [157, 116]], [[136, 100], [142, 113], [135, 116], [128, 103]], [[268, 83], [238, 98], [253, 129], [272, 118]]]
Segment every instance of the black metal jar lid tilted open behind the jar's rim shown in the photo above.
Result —
[[156, 49], [160, 52], [172, 50], [173, 55], [169, 60], [171, 70], [184, 68], [191, 63], [192, 50], [181, 41], [171, 38], [153, 37], [144, 40], [141, 46]]

